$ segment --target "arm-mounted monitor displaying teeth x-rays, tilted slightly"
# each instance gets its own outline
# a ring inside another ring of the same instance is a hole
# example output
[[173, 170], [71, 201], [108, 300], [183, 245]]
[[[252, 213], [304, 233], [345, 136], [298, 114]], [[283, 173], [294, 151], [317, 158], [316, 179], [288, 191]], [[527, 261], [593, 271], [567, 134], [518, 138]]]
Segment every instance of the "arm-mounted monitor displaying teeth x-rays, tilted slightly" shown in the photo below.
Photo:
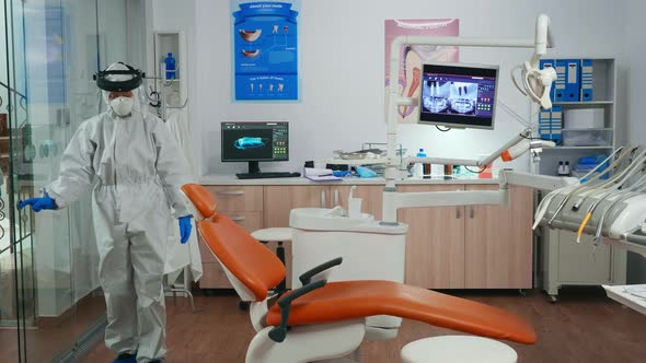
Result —
[[419, 124], [493, 129], [498, 66], [425, 63]]

